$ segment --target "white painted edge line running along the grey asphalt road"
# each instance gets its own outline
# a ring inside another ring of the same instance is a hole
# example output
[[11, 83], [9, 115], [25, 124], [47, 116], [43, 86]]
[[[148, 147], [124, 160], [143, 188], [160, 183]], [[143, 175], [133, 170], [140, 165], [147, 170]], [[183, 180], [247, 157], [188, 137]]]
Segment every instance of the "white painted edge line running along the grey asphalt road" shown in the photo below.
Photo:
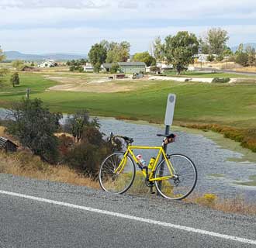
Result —
[[133, 215], [124, 215], [124, 214], [120, 214], [118, 212], [110, 212], [110, 211], [97, 209], [97, 208], [90, 208], [90, 207], [85, 207], [85, 206], [81, 206], [81, 205], [74, 205], [74, 204], [67, 203], [67, 202], [57, 202], [57, 201], [49, 200], [46, 198], [39, 198], [39, 197], [31, 196], [31, 195], [22, 195], [22, 194], [10, 192], [10, 191], [0, 191], [0, 194], [16, 196], [19, 198], [26, 198], [26, 199], [33, 200], [36, 202], [46, 202], [46, 203], [50, 203], [50, 204], [54, 204], [54, 205], [61, 205], [61, 206], [67, 207], [67, 208], [77, 208], [77, 209], [85, 210], [88, 212], [96, 212], [96, 213], [103, 214], [103, 215], [110, 215], [110, 216], [115, 216], [115, 217], [119, 217], [119, 218], [123, 218], [123, 219], [130, 219], [130, 220], [135, 220], [138, 222], [145, 222], [145, 223], [154, 224], [154, 225], [158, 225], [158, 226], [166, 226], [166, 227], [170, 227], [173, 229], [180, 229], [180, 230], [186, 231], [186, 232], [195, 232], [195, 233], [199, 233], [202, 235], [208, 235], [208, 236], [213, 236], [213, 237], [217, 237], [217, 238], [221, 238], [221, 239], [229, 239], [232, 241], [256, 245], [256, 240], [253, 240], [253, 239], [244, 239], [244, 238], [240, 238], [237, 236], [221, 234], [218, 232], [209, 232], [209, 231], [202, 230], [202, 229], [195, 229], [195, 228], [192, 228], [189, 226], [179, 226], [179, 225], [171, 224], [168, 222], [159, 222], [154, 219], [144, 219], [144, 218], [136, 217]]

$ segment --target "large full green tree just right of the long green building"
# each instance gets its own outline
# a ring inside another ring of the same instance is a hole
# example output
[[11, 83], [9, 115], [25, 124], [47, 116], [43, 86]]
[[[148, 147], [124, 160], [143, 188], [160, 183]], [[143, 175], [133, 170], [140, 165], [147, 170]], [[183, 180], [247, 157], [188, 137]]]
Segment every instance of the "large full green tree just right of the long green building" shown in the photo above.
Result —
[[198, 50], [199, 42], [193, 33], [182, 31], [176, 36], [165, 38], [165, 57], [178, 74], [193, 62], [193, 56], [198, 53]]

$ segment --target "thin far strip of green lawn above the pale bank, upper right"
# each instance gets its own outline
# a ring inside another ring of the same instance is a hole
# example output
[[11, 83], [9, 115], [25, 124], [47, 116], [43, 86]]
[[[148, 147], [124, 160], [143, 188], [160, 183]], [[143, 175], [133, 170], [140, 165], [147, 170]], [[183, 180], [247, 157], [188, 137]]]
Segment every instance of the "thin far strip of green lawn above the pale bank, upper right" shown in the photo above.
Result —
[[199, 72], [199, 71], [185, 71], [181, 75], [177, 75], [175, 71], [169, 71], [164, 73], [168, 77], [230, 77], [230, 78], [256, 78], [255, 75], [247, 74], [232, 74], [232, 73], [210, 73], [210, 72]]

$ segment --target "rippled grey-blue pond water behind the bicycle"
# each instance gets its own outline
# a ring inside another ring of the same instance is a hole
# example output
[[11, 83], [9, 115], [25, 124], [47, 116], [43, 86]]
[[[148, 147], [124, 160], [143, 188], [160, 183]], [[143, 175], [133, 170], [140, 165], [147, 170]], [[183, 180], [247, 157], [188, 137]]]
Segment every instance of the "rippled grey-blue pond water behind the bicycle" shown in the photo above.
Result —
[[[6, 110], [0, 109], [0, 118], [5, 118], [6, 113]], [[156, 136], [157, 133], [164, 133], [161, 126], [111, 118], [100, 118], [99, 122], [102, 132], [106, 135], [112, 132], [129, 136], [136, 145], [160, 146], [162, 143], [162, 138]], [[175, 143], [168, 146], [168, 153], [183, 153], [193, 160], [199, 173], [195, 191], [200, 194], [213, 193], [221, 198], [239, 196], [248, 202], [256, 202], [256, 163], [234, 160], [242, 158], [243, 154], [224, 149], [202, 134], [182, 131], [174, 133], [178, 137]], [[137, 153], [141, 153], [147, 162], [155, 155], [147, 150], [138, 150]]]

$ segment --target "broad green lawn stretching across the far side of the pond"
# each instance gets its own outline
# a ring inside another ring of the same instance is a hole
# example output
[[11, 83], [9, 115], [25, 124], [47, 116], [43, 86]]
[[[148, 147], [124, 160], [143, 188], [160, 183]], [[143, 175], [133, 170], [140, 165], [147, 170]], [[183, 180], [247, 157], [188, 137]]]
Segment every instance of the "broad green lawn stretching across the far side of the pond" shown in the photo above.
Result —
[[[67, 74], [70, 75], [70, 74]], [[90, 74], [81, 74], [81, 77]], [[59, 75], [63, 76], [63, 75]], [[168, 93], [177, 95], [175, 122], [205, 122], [221, 125], [256, 126], [256, 84], [202, 84], [154, 81], [140, 91], [85, 93], [46, 91], [57, 84], [42, 74], [20, 74], [21, 85], [0, 88], [0, 107], [9, 108], [31, 88], [32, 98], [42, 98], [51, 110], [74, 112], [87, 108], [92, 115], [122, 116], [163, 122]], [[126, 84], [130, 84], [129, 81]], [[138, 82], [139, 84], [139, 82]]]

